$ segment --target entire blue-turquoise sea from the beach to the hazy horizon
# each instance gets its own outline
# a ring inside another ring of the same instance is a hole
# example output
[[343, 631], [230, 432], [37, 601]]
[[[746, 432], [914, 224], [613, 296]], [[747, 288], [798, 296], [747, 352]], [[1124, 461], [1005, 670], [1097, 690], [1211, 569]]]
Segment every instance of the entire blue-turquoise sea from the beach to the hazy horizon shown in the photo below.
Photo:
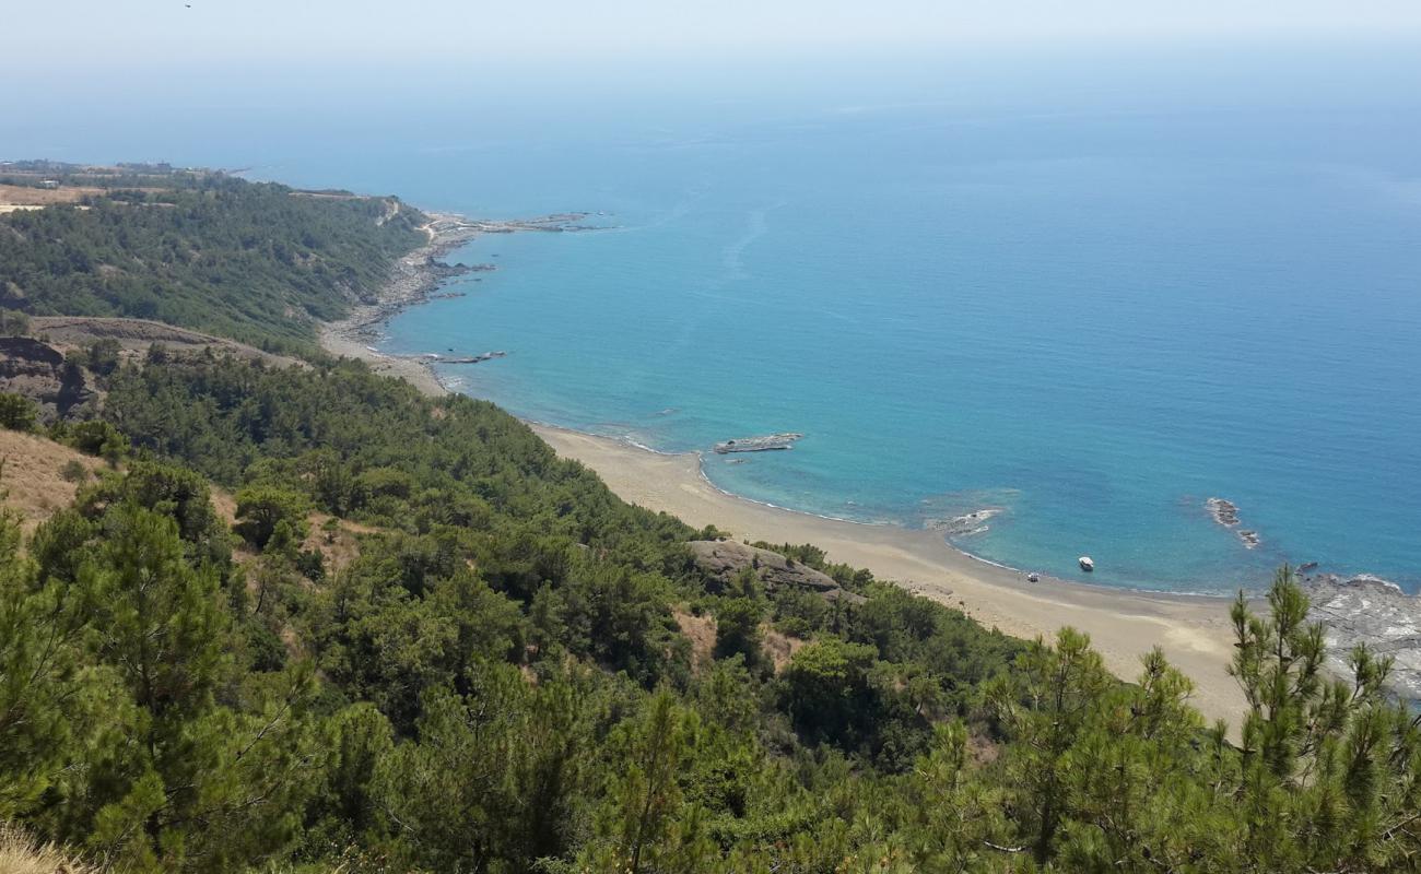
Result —
[[[496, 269], [378, 348], [507, 351], [438, 371], [529, 419], [699, 451], [726, 492], [1022, 570], [1222, 593], [1317, 563], [1417, 591], [1418, 57], [212, 77], [168, 85], [186, 111], [158, 128], [152, 95], [84, 92], [82, 119], [31, 101], [0, 158], [585, 213], [452, 253]], [[709, 452], [774, 432], [804, 436]]]

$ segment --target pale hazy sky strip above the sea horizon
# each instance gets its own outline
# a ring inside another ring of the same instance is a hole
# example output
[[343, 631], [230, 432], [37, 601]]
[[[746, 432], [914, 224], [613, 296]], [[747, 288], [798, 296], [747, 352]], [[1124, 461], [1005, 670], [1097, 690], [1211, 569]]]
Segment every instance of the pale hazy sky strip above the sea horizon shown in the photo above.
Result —
[[517, 60], [1198, 40], [1421, 38], [1421, 0], [45, 0], [0, 68]]

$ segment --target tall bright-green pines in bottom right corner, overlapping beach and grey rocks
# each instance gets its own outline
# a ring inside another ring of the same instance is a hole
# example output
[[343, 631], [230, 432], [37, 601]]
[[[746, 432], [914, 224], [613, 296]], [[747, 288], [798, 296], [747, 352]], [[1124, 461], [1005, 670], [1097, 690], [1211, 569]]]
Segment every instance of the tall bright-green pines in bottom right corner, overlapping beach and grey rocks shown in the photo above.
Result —
[[1249, 703], [1241, 749], [1242, 854], [1276, 870], [1368, 870], [1415, 864], [1421, 802], [1421, 718], [1388, 699], [1393, 659], [1349, 654], [1350, 682], [1323, 672], [1323, 627], [1282, 567], [1269, 615], [1239, 593], [1238, 652], [1229, 672]]

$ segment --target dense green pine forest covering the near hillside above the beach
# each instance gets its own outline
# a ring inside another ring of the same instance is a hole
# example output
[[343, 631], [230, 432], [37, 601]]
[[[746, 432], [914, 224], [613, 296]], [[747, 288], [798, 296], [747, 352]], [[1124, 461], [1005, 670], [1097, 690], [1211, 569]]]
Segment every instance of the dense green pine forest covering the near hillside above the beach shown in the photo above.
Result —
[[[0, 819], [121, 870], [1418, 870], [1421, 729], [1286, 573], [1242, 745], [1145, 654], [705, 577], [522, 423], [338, 364], [129, 365], [131, 442], [0, 523]], [[209, 482], [236, 490], [222, 522]], [[327, 514], [367, 530], [333, 567]], [[678, 622], [719, 620], [710, 652]], [[777, 631], [779, 630], [779, 631]], [[776, 668], [764, 637], [807, 642]]]

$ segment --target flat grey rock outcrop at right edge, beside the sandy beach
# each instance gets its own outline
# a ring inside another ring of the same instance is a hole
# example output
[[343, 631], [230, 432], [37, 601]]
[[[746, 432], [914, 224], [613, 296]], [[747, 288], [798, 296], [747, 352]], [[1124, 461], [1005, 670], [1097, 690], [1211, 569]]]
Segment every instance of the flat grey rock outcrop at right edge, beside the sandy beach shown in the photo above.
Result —
[[1357, 644], [1395, 658], [1391, 688], [1403, 698], [1421, 701], [1421, 598], [1395, 583], [1367, 574], [1303, 577], [1312, 598], [1309, 617], [1323, 624], [1327, 667], [1350, 676], [1347, 654]]

